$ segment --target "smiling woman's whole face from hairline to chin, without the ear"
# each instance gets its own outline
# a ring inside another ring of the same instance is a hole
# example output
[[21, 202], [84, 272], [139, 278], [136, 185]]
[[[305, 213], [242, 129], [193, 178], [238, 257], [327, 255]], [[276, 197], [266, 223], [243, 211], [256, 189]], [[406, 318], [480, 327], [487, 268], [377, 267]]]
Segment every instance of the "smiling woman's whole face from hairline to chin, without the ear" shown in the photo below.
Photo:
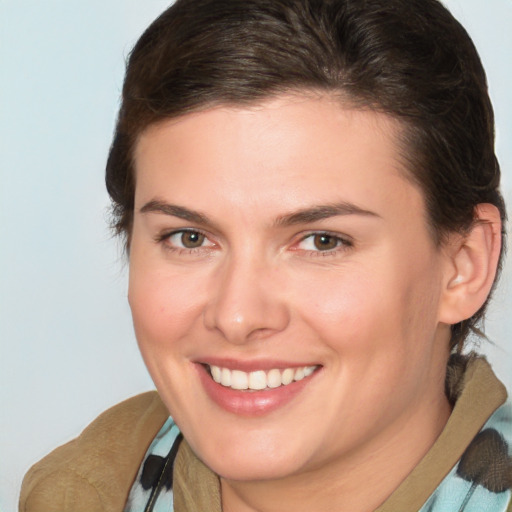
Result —
[[397, 132], [383, 114], [289, 95], [140, 138], [137, 339], [171, 415], [224, 478], [355, 461], [421, 439], [446, 406], [448, 258]]

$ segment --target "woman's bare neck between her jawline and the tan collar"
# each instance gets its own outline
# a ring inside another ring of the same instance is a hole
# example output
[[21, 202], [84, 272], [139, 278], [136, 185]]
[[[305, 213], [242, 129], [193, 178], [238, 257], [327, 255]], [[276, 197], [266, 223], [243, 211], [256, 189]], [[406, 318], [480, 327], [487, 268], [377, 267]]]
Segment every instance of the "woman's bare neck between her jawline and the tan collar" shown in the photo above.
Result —
[[432, 447], [450, 412], [443, 394], [417, 416], [395, 422], [389, 432], [321, 467], [277, 480], [221, 479], [223, 511], [374, 511]]

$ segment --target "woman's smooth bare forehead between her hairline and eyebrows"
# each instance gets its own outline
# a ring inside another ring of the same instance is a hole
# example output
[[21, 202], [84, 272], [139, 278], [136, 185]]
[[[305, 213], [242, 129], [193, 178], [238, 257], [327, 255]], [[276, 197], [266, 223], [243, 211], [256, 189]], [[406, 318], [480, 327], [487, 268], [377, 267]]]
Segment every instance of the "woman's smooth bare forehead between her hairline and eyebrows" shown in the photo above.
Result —
[[155, 194], [190, 202], [192, 190], [208, 204], [245, 209], [387, 201], [413, 188], [404, 178], [400, 133], [393, 118], [328, 97], [287, 95], [187, 114], [141, 135], [136, 203]]

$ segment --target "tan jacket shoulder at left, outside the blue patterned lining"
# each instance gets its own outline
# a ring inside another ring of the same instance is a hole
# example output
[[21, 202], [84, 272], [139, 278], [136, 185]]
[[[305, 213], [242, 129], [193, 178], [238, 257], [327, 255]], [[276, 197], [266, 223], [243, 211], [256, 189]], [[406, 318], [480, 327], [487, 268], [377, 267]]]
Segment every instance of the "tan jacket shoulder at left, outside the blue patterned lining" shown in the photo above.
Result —
[[123, 509], [146, 450], [169, 413], [156, 392], [102, 413], [79, 437], [25, 475], [20, 512], [113, 512]]

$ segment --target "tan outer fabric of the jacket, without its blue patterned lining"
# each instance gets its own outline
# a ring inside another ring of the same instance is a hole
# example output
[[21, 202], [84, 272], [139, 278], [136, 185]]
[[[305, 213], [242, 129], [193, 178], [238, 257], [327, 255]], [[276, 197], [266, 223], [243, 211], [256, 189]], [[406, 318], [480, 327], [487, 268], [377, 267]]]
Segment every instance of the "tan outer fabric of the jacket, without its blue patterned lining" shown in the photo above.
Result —
[[[507, 397], [484, 359], [474, 360], [452, 382], [451, 393], [460, 396], [445, 429], [376, 512], [419, 510]], [[167, 417], [156, 392], [104, 412], [77, 439], [30, 469], [20, 512], [122, 512], [144, 454]], [[221, 512], [219, 480], [186, 442], [178, 451], [173, 489], [175, 512]]]

